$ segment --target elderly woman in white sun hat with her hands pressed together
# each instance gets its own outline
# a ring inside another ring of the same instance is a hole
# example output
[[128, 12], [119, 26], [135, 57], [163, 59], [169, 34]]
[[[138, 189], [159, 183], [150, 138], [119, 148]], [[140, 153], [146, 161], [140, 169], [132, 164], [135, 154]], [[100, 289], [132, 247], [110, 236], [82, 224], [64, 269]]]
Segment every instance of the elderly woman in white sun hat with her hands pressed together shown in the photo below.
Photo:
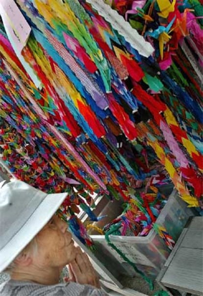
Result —
[[[87, 255], [54, 215], [67, 193], [46, 194], [22, 181], [0, 185], [1, 296], [104, 296]], [[59, 284], [64, 266], [69, 281]]]

